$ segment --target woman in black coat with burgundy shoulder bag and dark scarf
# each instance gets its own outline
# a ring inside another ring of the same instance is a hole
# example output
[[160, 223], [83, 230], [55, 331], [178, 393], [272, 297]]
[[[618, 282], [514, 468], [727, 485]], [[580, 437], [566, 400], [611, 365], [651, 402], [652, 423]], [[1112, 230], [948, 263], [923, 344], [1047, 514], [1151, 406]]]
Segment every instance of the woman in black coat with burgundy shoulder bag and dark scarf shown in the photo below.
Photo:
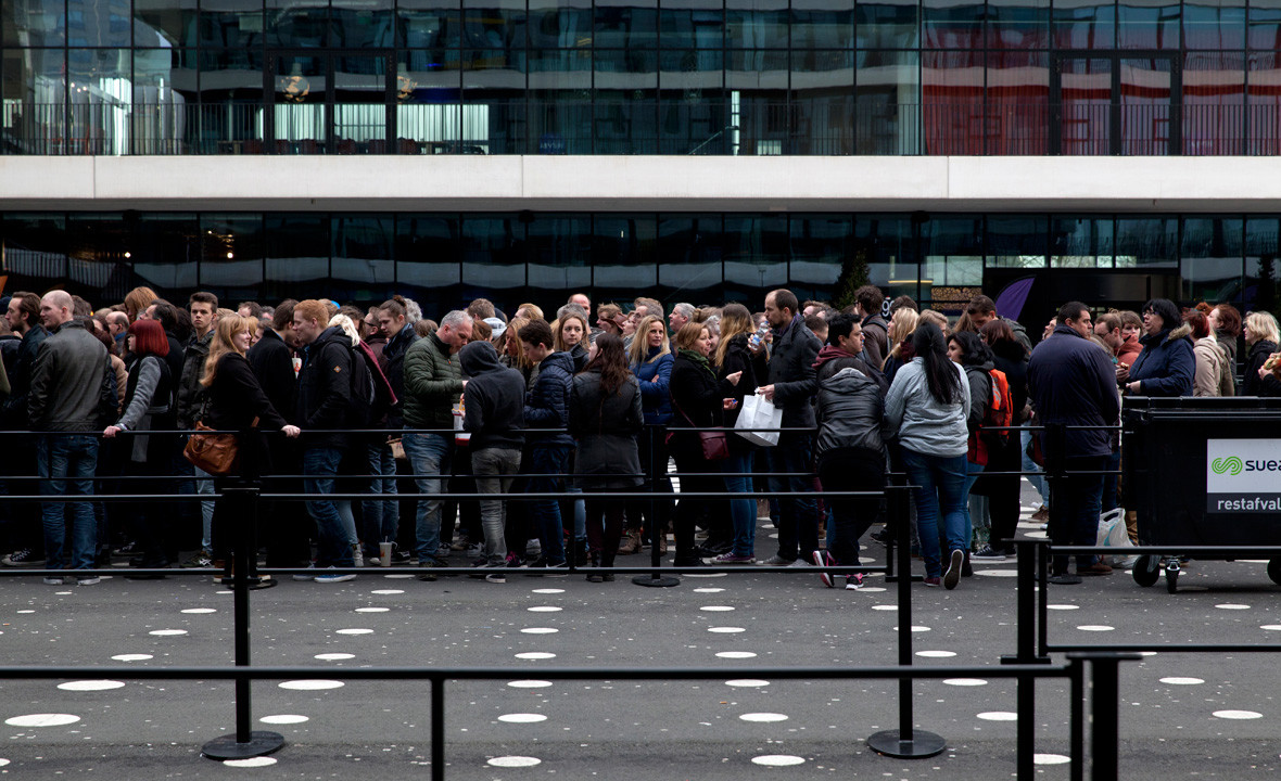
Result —
[[[676, 332], [676, 358], [671, 362], [673, 428], [710, 428], [724, 425], [722, 411], [733, 406], [734, 388], [743, 373], [716, 379], [707, 356], [711, 355], [711, 332], [702, 323], [687, 323]], [[669, 438], [671, 455], [676, 460], [681, 492], [719, 493], [725, 489], [720, 475], [697, 476], [697, 472], [721, 471], [720, 461], [703, 458], [703, 448], [697, 431], [673, 431]], [[694, 551], [694, 521], [706, 499], [681, 499], [676, 504], [673, 524], [676, 538], [678, 567], [696, 567], [702, 562]]]

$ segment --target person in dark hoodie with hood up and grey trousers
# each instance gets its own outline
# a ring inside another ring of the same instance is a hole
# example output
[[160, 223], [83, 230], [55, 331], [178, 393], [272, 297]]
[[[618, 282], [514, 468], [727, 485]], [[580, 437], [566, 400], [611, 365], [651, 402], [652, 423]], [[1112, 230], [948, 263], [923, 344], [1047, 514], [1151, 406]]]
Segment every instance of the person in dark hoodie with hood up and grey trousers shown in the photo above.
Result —
[[[471, 434], [471, 472], [477, 490], [505, 494], [512, 475], [520, 471], [520, 448], [525, 444], [525, 379], [498, 362], [492, 342], [471, 342], [459, 352], [462, 374], [470, 378], [462, 389], [464, 430]], [[484, 566], [488, 583], [506, 583], [506, 504], [502, 499], [480, 502], [484, 531]]]

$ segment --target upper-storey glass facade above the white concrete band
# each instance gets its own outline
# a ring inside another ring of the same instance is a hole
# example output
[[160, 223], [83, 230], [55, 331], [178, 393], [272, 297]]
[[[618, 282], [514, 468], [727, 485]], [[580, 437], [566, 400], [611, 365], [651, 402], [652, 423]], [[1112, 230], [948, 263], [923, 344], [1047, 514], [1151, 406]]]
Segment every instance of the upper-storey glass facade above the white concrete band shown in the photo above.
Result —
[[5, 0], [0, 152], [1275, 155], [1281, 0]]

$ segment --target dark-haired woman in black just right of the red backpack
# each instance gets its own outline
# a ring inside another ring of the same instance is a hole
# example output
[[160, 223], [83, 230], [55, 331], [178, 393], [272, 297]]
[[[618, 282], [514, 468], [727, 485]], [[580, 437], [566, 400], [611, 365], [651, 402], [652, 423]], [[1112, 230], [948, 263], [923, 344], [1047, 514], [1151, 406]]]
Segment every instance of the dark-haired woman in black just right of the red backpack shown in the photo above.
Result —
[[[1027, 351], [1015, 338], [1015, 332], [1000, 318], [995, 318], [979, 329], [979, 335], [991, 350], [991, 365], [1004, 373], [1009, 384], [1009, 398], [1013, 402], [1011, 425], [1022, 425], [1027, 419]], [[1004, 561], [1015, 554], [1015, 529], [1018, 525], [1018, 472], [1022, 463], [1022, 448], [1018, 431], [1011, 431], [1004, 439], [993, 437], [988, 440], [988, 467], [979, 481], [970, 489], [988, 498], [988, 517], [990, 521], [988, 545], [974, 554], [976, 560]], [[991, 474], [1002, 472], [1002, 474]]]

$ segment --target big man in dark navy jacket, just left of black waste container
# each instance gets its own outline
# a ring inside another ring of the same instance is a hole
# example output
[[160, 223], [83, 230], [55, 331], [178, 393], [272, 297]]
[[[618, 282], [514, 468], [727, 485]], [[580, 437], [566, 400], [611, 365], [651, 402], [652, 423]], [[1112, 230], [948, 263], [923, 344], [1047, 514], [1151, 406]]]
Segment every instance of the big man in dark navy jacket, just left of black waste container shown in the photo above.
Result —
[[[1056, 545], [1093, 545], [1098, 539], [1103, 499], [1103, 475], [1098, 472], [1107, 469], [1112, 453], [1106, 426], [1121, 412], [1112, 360], [1090, 335], [1090, 310], [1080, 301], [1068, 301], [1058, 310], [1054, 333], [1036, 346], [1027, 364], [1029, 396], [1044, 425], [1098, 426], [1065, 431], [1061, 448], [1043, 442], [1045, 466], [1062, 457], [1068, 472], [1063, 490], [1050, 497], [1049, 536]], [[1080, 583], [1067, 574], [1066, 556], [1054, 557], [1052, 571], [1054, 583]], [[1077, 575], [1111, 571], [1093, 556], [1076, 560]]]

